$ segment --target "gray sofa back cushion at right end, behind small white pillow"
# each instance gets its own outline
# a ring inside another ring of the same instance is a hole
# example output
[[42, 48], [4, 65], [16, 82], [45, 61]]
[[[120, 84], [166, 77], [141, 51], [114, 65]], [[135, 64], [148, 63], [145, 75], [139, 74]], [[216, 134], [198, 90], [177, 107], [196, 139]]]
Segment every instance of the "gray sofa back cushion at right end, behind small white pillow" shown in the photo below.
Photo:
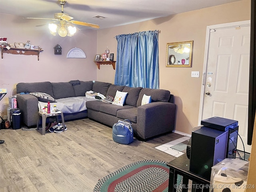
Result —
[[143, 88], [140, 91], [140, 95], [137, 101], [137, 107], [141, 106], [141, 101], [144, 94], [151, 96], [151, 102], [156, 102], [156, 101], [168, 102], [170, 98], [170, 91], [168, 90]]

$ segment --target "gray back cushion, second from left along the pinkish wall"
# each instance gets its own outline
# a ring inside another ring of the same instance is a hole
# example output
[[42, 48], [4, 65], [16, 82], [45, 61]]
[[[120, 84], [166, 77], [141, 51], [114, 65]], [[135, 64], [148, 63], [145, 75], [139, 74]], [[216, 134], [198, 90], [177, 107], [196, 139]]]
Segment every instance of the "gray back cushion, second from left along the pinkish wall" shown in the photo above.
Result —
[[55, 99], [75, 97], [74, 88], [69, 82], [52, 83], [52, 92]]

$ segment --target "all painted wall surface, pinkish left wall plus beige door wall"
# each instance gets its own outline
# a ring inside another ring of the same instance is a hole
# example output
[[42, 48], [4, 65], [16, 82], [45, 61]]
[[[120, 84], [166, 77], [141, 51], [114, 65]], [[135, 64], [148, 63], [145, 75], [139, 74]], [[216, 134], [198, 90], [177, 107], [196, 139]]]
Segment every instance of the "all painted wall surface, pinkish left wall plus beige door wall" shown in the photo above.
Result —
[[[108, 48], [116, 59], [117, 42], [114, 36], [160, 30], [160, 88], [170, 90], [175, 96], [176, 130], [191, 134], [192, 128], [198, 125], [206, 26], [242, 20], [250, 20], [250, 0], [98, 31], [81, 30], [73, 37], [61, 38], [52, 36], [47, 26], [35, 27], [44, 21], [0, 14], [1, 37], [7, 37], [9, 43], [30, 40], [44, 49], [39, 61], [36, 56], [12, 54], [4, 54], [4, 58], [0, 58], [0, 88], [8, 90], [8, 95], [0, 102], [0, 114], [6, 115], [7, 98], [16, 93], [18, 82], [97, 79], [114, 83], [115, 70], [111, 65], [101, 65], [98, 70], [93, 62], [95, 55], [102, 54]], [[187, 40], [194, 40], [192, 67], [166, 68], [166, 43]], [[62, 55], [54, 55], [56, 44], [62, 47]], [[74, 47], [81, 48], [87, 58], [66, 58], [68, 50]], [[191, 78], [191, 71], [200, 71], [200, 78]]]

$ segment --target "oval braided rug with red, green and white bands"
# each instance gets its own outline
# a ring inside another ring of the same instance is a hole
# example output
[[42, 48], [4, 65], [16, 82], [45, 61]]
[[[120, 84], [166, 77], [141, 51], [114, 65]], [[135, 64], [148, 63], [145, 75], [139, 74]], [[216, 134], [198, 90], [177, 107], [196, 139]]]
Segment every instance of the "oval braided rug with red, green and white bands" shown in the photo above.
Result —
[[143, 160], [126, 165], [103, 177], [94, 192], [167, 192], [169, 167], [166, 162]]

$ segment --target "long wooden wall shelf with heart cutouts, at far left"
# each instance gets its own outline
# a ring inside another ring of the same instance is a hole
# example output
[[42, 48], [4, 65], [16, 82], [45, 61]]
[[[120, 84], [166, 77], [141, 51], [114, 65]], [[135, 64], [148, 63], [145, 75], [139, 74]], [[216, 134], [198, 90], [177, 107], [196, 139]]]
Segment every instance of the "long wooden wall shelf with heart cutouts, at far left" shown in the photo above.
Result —
[[15, 55], [37, 55], [37, 60], [39, 61], [39, 53], [44, 50], [38, 49], [25, 49], [25, 48], [10, 48], [1, 47], [1, 56], [3, 58], [3, 53], [10, 53]]

